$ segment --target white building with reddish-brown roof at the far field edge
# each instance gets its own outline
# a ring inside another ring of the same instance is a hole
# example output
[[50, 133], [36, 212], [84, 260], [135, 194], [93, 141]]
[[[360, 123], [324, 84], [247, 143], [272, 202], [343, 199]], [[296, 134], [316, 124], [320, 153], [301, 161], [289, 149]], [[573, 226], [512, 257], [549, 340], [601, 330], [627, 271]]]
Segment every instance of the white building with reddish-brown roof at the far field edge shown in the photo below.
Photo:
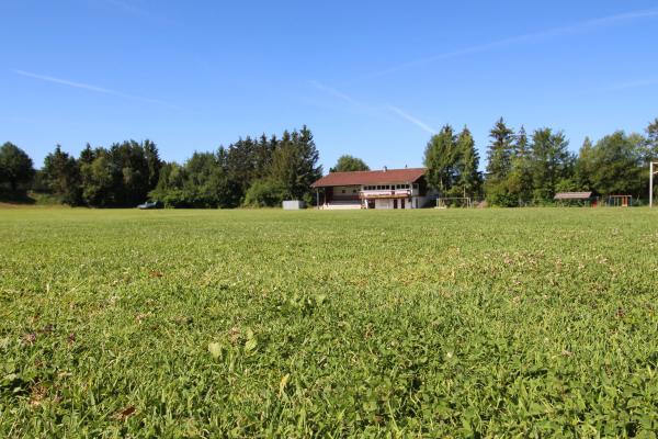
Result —
[[330, 172], [311, 184], [320, 209], [419, 209], [428, 196], [426, 168]]

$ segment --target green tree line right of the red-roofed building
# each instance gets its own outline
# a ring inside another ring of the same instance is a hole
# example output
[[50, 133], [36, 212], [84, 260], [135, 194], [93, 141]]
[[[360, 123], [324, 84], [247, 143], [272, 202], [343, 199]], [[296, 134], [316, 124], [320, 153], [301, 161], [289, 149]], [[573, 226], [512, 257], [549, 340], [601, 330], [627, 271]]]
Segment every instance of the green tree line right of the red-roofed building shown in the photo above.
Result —
[[646, 136], [616, 131], [597, 143], [587, 137], [578, 154], [569, 151], [561, 131], [514, 132], [499, 119], [489, 132], [486, 171], [467, 127], [455, 134], [445, 125], [428, 142], [428, 182], [441, 196], [484, 198], [499, 206], [542, 205], [557, 192], [593, 191], [599, 195], [648, 198], [648, 167], [658, 160], [658, 119]]

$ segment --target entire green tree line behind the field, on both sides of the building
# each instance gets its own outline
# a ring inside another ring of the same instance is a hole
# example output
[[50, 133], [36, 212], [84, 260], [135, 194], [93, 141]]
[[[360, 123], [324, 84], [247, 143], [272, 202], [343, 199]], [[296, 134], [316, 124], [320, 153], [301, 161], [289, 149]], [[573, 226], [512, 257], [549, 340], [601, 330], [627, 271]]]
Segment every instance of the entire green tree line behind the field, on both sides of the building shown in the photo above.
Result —
[[[593, 191], [599, 195], [648, 196], [648, 164], [658, 160], [658, 119], [646, 135], [617, 131], [578, 154], [561, 131], [527, 134], [499, 119], [489, 132], [487, 164], [470, 131], [445, 125], [428, 142], [428, 183], [441, 196], [486, 199], [492, 205], [523, 206], [553, 202], [557, 192]], [[147, 199], [171, 207], [275, 206], [282, 200], [313, 203], [310, 184], [321, 177], [319, 153], [306, 126], [281, 137], [247, 136], [215, 151], [195, 151], [183, 164], [160, 159], [155, 143], [127, 140], [109, 148], [90, 145], [73, 157], [59, 145], [36, 171], [18, 146], [0, 147], [0, 194], [32, 188], [70, 205], [134, 206]], [[368, 170], [344, 155], [330, 172]]]

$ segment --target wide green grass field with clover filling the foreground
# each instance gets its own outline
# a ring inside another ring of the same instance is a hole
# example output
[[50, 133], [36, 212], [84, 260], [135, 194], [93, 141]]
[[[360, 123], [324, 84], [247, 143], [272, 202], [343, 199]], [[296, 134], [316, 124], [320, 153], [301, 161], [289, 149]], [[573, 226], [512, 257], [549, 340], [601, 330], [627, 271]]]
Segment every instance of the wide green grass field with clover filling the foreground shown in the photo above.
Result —
[[0, 437], [658, 430], [658, 210], [0, 210]]

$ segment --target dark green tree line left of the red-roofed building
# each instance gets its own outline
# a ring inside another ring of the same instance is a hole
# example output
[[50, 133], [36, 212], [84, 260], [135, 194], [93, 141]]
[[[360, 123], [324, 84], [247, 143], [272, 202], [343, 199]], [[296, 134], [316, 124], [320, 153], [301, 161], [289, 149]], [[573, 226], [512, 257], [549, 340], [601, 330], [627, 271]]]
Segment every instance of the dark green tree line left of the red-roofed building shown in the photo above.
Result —
[[0, 147], [0, 189], [33, 189], [70, 205], [135, 206], [147, 199], [170, 207], [280, 205], [310, 202], [310, 184], [321, 177], [319, 153], [306, 126], [281, 137], [240, 138], [216, 151], [195, 151], [184, 164], [167, 162], [151, 140], [126, 140], [109, 148], [89, 144], [79, 157], [59, 145], [36, 171], [18, 146]]

